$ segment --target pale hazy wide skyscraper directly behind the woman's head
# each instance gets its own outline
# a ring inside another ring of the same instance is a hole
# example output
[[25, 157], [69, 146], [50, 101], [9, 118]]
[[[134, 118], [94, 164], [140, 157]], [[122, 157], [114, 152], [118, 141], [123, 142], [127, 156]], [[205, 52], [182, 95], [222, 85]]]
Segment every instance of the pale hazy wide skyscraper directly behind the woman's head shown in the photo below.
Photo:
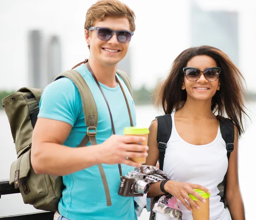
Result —
[[190, 45], [217, 47], [239, 66], [238, 23], [237, 11], [204, 11], [195, 0], [191, 0]]

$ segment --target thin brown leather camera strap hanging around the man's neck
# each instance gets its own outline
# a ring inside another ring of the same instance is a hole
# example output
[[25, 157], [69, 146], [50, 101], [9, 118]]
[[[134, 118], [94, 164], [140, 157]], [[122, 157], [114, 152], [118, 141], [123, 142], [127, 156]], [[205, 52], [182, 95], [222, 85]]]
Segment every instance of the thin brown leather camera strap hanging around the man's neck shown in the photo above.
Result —
[[[113, 131], [113, 134], [116, 134], [115, 127], [114, 127], [114, 123], [113, 123], [113, 117], [112, 117], [112, 114], [111, 114], [110, 107], [109, 107], [109, 105], [108, 105], [108, 100], [107, 100], [107, 98], [105, 97], [105, 94], [104, 94], [104, 92], [102, 91], [102, 88], [101, 88], [101, 86], [99, 85], [99, 82], [98, 82], [96, 76], [94, 75], [92, 69], [90, 68], [90, 64], [89, 64], [88, 60], [87, 60], [86, 65], [87, 65], [88, 70], [89, 70], [90, 73], [92, 74], [93, 79], [95, 80], [97, 86], [99, 87], [99, 90], [101, 91], [101, 93], [102, 93], [102, 95], [103, 95], [103, 97], [104, 97], [104, 99], [105, 99], [105, 102], [106, 102], [106, 104], [107, 104], [107, 106], [108, 106], [108, 111], [109, 111], [109, 114], [110, 114], [112, 131]], [[122, 84], [119, 82], [119, 80], [118, 80], [117, 77], [116, 77], [116, 81], [117, 81], [117, 83], [119, 84], [119, 86], [121, 87], [122, 93], [124, 94], [126, 106], [127, 106], [128, 113], [129, 113], [129, 117], [130, 117], [131, 126], [134, 126], [134, 125], [133, 125], [133, 121], [132, 121], [132, 117], [131, 117], [131, 110], [130, 110], [130, 107], [129, 107], [129, 104], [128, 104], [127, 97], [126, 97], [126, 95], [125, 95], [125, 91], [124, 91], [124, 89], [123, 89], [123, 87], [122, 87]], [[120, 179], [121, 179], [121, 181], [122, 181], [123, 176], [122, 176], [122, 167], [121, 167], [121, 164], [118, 164], [118, 168], [119, 168]]]

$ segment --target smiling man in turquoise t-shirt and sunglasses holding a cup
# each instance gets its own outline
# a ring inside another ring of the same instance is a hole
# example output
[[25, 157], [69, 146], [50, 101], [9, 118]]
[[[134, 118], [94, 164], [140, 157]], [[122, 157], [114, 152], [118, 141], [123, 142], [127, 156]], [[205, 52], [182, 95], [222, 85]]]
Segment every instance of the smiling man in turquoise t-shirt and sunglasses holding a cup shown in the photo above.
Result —
[[[148, 146], [133, 144], [143, 137], [123, 136], [131, 126], [124, 94], [116, 80], [118, 62], [125, 57], [133, 31], [134, 12], [118, 0], [101, 0], [88, 9], [85, 39], [90, 49], [88, 63], [76, 67], [87, 82], [96, 102], [99, 121], [97, 145], [77, 147], [87, 132], [79, 91], [68, 78], [49, 84], [41, 97], [40, 112], [32, 137], [31, 162], [36, 173], [63, 176], [64, 191], [58, 204], [58, 220], [137, 219], [133, 197], [118, 195], [120, 175], [141, 166], [127, 157], [145, 157]], [[104, 28], [104, 29], [102, 29]], [[121, 31], [121, 32], [114, 32]], [[105, 99], [88, 66], [99, 81]], [[125, 83], [118, 77], [136, 125], [135, 107]], [[144, 151], [144, 152], [143, 152]], [[97, 164], [102, 164], [111, 194], [107, 206]]]

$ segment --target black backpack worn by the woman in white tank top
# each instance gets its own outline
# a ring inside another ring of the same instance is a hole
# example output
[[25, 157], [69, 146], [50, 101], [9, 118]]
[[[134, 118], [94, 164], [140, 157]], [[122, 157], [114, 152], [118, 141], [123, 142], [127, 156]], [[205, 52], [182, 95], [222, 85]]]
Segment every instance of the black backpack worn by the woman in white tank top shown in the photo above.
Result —
[[[165, 114], [161, 116], [157, 116], [157, 143], [159, 150], [159, 166], [160, 170], [163, 170], [163, 161], [164, 155], [166, 151], [166, 143], [168, 142], [171, 133], [172, 133], [172, 116], [171, 114]], [[231, 119], [217, 116], [221, 136], [226, 143], [227, 148], [227, 159], [230, 158], [230, 153], [234, 149], [234, 140], [235, 140], [235, 127], [234, 123]], [[227, 207], [227, 201], [225, 199], [225, 191], [226, 191], [226, 178], [227, 174], [224, 177], [224, 180], [218, 185], [218, 189], [220, 191], [219, 195], [221, 196], [221, 202], [224, 203], [225, 208]]]

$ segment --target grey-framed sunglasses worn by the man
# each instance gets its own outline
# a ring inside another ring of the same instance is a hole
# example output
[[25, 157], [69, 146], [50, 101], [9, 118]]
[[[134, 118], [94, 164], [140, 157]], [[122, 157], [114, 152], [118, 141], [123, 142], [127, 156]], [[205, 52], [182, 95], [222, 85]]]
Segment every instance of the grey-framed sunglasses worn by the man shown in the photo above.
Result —
[[129, 43], [132, 35], [134, 34], [131, 31], [114, 31], [109, 28], [100, 28], [100, 27], [90, 27], [89, 31], [97, 30], [97, 37], [100, 40], [110, 40], [114, 34], [116, 34], [117, 40], [120, 43]]

